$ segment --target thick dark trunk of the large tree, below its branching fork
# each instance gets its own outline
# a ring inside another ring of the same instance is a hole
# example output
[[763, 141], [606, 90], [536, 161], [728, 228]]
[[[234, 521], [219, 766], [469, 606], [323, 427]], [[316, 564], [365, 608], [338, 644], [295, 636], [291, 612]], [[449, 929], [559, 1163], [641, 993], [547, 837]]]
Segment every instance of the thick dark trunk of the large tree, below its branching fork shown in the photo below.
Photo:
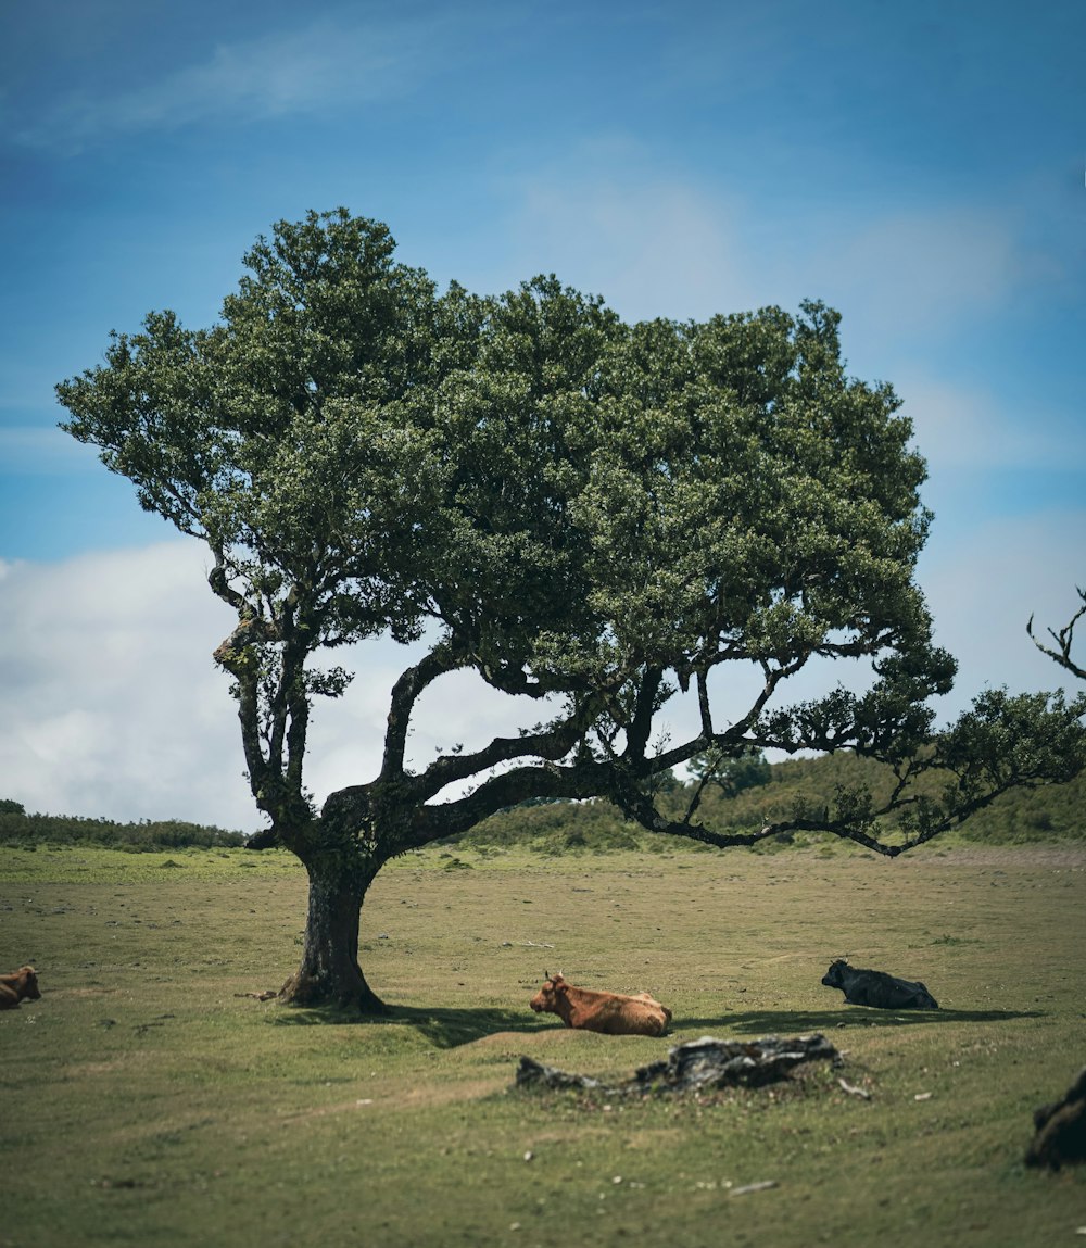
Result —
[[305, 861], [310, 911], [302, 965], [280, 988], [280, 1000], [297, 1006], [355, 1006], [386, 1015], [388, 1007], [358, 966], [358, 920], [377, 867], [345, 861], [343, 852]]

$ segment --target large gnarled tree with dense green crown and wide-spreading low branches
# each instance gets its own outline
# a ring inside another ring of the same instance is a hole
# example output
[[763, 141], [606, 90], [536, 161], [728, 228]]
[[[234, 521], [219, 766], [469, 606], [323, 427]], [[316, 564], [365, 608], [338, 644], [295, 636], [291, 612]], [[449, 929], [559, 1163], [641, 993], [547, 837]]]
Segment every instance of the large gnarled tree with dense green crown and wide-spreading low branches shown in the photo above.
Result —
[[[1081, 769], [1086, 708], [1059, 695], [989, 693], [932, 733], [927, 699], [955, 668], [914, 580], [924, 462], [891, 388], [846, 374], [835, 312], [627, 324], [553, 277], [438, 293], [393, 246], [343, 210], [280, 222], [220, 323], [151, 313], [57, 387], [64, 428], [207, 544], [237, 613], [215, 658], [267, 817], [256, 844], [310, 880], [285, 1000], [381, 1010], [358, 965], [377, 872], [526, 799], [605, 797], [722, 847], [803, 827], [896, 855]], [[350, 679], [318, 660], [387, 636], [413, 648], [379, 769], [318, 810], [311, 705]], [[870, 686], [788, 705], [811, 660], [865, 660]], [[421, 695], [462, 669], [538, 723], [412, 766]], [[680, 694], [695, 728], [669, 740]], [[672, 768], [765, 749], [851, 749], [899, 782], [879, 809], [843, 792], [751, 834], [707, 826], [695, 802], [657, 809]], [[932, 770], [941, 796], [916, 796]]]

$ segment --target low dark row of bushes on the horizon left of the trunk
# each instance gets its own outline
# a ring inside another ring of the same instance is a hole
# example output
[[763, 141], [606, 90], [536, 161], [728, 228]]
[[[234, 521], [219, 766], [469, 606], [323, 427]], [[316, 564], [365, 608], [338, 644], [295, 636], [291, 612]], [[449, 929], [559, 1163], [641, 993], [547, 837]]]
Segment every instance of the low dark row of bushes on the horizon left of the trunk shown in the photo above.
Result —
[[27, 815], [17, 801], [0, 799], [0, 845], [102, 845], [134, 852], [176, 849], [221, 849], [245, 844], [243, 832], [225, 831], [179, 819], [117, 824], [77, 815]]

